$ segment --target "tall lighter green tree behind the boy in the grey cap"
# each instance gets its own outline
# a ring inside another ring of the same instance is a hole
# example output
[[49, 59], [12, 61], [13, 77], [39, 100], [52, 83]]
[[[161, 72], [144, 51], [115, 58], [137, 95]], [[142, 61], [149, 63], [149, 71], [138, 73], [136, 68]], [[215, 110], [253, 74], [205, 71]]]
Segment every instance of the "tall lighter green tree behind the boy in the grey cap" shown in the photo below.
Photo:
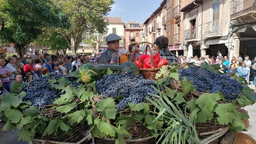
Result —
[[66, 40], [74, 54], [77, 52], [83, 35], [107, 32], [106, 16], [111, 10], [113, 0], [59, 0], [59, 6], [68, 15], [71, 27], [68, 30], [56, 28]]

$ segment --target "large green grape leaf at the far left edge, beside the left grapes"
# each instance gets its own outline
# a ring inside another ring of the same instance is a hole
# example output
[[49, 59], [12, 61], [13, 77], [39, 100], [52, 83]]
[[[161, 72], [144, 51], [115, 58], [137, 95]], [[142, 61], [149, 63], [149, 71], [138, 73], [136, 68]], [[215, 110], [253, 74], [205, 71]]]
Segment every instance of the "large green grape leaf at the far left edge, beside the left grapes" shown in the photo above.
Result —
[[10, 109], [10, 106], [17, 108], [17, 106], [22, 103], [22, 98], [24, 95], [26, 95], [25, 92], [21, 92], [19, 95], [7, 93], [4, 97], [1, 97], [0, 109], [4, 111]]

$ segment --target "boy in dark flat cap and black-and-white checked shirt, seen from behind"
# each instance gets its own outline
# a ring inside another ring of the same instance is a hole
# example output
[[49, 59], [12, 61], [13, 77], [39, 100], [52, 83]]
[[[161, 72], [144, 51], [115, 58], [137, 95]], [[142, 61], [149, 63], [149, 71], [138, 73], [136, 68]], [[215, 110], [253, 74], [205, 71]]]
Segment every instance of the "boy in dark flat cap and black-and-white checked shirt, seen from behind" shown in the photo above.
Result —
[[154, 44], [157, 45], [157, 50], [160, 53], [161, 58], [166, 58], [168, 60], [168, 65], [172, 63], [178, 64], [179, 60], [177, 56], [168, 50], [168, 42], [168, 38], [161, 35], [155, 40]]

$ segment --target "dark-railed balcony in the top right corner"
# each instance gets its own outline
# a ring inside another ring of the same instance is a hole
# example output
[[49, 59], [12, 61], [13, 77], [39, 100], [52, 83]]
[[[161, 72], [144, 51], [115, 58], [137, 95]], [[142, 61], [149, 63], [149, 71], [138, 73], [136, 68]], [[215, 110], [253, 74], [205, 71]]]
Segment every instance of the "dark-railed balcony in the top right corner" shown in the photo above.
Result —
[[232, 0], [230, 12], [230, 20], [251, 17], [253, 13], [256, 13], [256, 0]]

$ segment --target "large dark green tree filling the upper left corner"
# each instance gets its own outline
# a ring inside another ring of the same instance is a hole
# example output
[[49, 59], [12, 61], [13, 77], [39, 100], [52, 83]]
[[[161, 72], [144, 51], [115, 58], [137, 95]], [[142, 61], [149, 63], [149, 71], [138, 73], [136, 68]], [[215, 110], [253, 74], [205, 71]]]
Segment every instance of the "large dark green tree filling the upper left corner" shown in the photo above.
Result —
[[42, 28], [68, 29], [67, 15], [50, 0], [0, 0], [0, 40], [14, 43], [20, 57]]

